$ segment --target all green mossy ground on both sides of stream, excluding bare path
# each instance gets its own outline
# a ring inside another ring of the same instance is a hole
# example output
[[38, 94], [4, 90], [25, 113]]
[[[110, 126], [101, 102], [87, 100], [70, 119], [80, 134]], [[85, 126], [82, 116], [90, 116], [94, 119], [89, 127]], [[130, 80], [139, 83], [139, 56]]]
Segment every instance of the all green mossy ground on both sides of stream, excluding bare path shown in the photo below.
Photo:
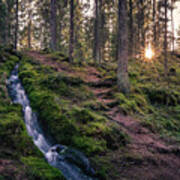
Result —
[[[124, 95], [117, 91], [116, 63], [106, 63], [98, 67], [97, 71], [101, 82], [95, 83], [87, 82], [83, 78], [89, 65], [81, 64], [80, 66], [79, 62], [70, 65], [68, 58], [59, 52], [44, 53], [44, 55], [51, 58], [51, 61], [60, 64], [65, 70], [59, 71], [48, 64], [44, 65], [38, 60], [23, 56], [20, 62], [19, 76], [33, 110], [38, 113], [44, 131], [53, 137], [55, 143], [72, 146], [90, 158], [99, 179], [120, 178], [118, 167], [115, 167], [117, 163], [112, 162], [112, 159], [115, 161], [114, 157], [116, 156], [117, 159], [121, 159], [120, 162], [127, 162], [127, 168], [129, 162], [144, 161], [141, 156], [128, 153], [126, 144], [131, 143], [131, 139], [123, 133], [119, 125], [109, 121], [106, 112], [113, 108], [124, 115], [138, 118], [143, 126], [154, 133], [180, 140], [180, 63], [176, 57], [169, 55], [168, 78], [164, 78], [161, 57], [153, 62], [130, 60], [131, 93]], [[3, 65], [5, 65], [1, 66], [2, 71], [0, 72], [4, 79], [8, 77], [15, 62], [3, 61]], [[111, 91], [105, 95], [112, 101], [99, 102], [92, 91], [92, 88], [96, 87], [111, 88]], [[23, 148], [24, 144], [27, 146], [26, 143], [32, 143], [32, 141], [26, 135], [20, 107], [10, 104], [4, 88], [5, 85], [0, 88], [3, 99], [0, 102], [9, 103], [7, 108], [3, 104], [0, 105], [4, 111], [3, 117], [7, 119], [4, 129], [11, 127], [8, 123], [12, 123], [13, 127], [17, 128], [17, 137], [12, 135], [11, 131], [14, 130], [9, 128], [10, 130], [7, 132], [10, 133], [6, 134], [9, 140], [4, 141], [6, 142], [4, 149], [9, 148], [10, 151], [6, 151], [8, 153], [2, 151], [3, 156], [6, 158], [13, 156], [15, 160], [20, 159], [22, 163], [20, 167], [29, 169], [26, 171], [26, 175], [30, 179], [34, 177], [56, 179], [59, 172], [47, 165], [38, 150], [32, 148], [33, 145], [29, 146], [31, 147], [29, 149]], [[12, 116], [17, 116], [17, 118], [12, 119]], [[0, 136], [7, 133], [4, 129], [2, 126]], [[16, 149], [15, 154], [12, 153], [11, 144]], [[117, 162], [119, 161], [117, 160]]]

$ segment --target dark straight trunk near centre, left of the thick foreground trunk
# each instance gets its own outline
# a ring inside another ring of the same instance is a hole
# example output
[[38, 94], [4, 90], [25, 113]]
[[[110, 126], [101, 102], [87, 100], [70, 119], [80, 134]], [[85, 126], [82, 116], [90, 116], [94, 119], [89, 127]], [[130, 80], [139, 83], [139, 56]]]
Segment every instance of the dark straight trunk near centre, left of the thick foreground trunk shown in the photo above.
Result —
[[99, 1], [95, 0], [95, 21], [94, 21], [94, 50], [93, 57], [96, 63], [100, 61], [99, 54]]

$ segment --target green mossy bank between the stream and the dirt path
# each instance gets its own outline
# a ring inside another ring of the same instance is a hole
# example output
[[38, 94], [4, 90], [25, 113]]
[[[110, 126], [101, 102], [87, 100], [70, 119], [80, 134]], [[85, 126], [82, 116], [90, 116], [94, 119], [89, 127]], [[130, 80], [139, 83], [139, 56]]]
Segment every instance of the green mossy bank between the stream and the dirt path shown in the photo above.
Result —
[[[77, 64], [72, 68], [83, 71]], [[128, 143], [128, 136], [104, 116], [104, 108], [80, 76], [57, 72], [29, 57], [21, 61], [19, 76], [44, 131], [56, 143], [78, 149], [90, 159], [96, 156], [96, 161]], [[99, 178], [105, 178], [104, 167], [97, 171]]]

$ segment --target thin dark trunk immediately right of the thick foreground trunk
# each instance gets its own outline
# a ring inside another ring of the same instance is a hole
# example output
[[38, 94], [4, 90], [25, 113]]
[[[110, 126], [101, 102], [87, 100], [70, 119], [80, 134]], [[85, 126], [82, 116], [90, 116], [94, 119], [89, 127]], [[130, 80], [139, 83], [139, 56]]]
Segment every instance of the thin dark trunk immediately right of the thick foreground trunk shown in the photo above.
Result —
[[129, 56], [133, 56], [134, 51], [134, 32], [133, 32], [133, 2], [129, 0]]

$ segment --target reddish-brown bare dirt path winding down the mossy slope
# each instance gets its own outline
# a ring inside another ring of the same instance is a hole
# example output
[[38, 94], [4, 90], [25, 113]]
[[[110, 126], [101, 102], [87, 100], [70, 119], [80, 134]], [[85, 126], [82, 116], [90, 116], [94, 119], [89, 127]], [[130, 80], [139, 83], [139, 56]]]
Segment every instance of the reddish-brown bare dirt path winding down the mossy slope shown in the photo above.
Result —
[[[70, 76], [80, 76], [87, 83], [96, 84], [90, 89], [98, 101], [105, 106], [113, 103], [114, 99], [107, 95], [112, 91], [112, 87], [107, 85], [108, 82], [105, 86], [102, 85], [102, 77], [97, 68], [86, 66], [84, 72], [78, 72], [38, 52], [31, 51], [26, 54], [42, 64], [55, 68], [56, 71], [66, 72]], [[176, 141], [160, 137], [157, 132], [143, 126], [140, 120], [123, 115], [116, 106], [109, 107], [105, 115], [110, 121], [117, 122], [131, 139], [125, 149], [120, 148], [106, 155], [116, 169], [116, 174], [113, 174], [114, 169], [112, 173], [109, 172], [113, 180], [179, 180], [180, 147]]]

